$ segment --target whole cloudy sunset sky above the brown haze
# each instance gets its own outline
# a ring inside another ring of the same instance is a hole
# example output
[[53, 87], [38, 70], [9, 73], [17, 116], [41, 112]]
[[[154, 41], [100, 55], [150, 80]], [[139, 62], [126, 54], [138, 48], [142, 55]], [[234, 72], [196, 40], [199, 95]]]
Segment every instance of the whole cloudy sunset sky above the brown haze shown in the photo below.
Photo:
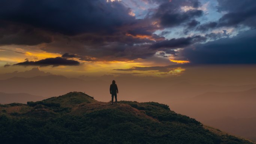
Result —
[[256, 63], [255, 0], [1, 0], [0, 73], [179, 76]]

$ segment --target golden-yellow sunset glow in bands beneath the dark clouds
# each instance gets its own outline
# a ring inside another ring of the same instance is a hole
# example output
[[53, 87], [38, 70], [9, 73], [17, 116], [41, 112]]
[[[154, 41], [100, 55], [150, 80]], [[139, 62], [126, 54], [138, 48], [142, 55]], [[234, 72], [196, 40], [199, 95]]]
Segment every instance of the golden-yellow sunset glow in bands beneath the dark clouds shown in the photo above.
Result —
[[[150, 39], [148, 36], [137, 36], [141, 39]], [[40, 61], [42, 59], [46, 58], [55, 58], [55, 57], [61, 57], [60, 53], [51, 53], [51, 52], [45, 52], [40, 49], [27, 49], [25, 48], [8, 48], [3, 49], [1, 51], [4, 53], [2, 56], [0, 56], [0, 62], [1, 67], [4, 67], [5, 64], [16, 64], [19, 62], [24, 61]], [[7, 54], [8, 53], [8, 57]], [[12, 54], [12, 56], [10, 56]], [[101, 61], [83, 61], [79, 58], [72, 58], [75, 61], [79, 61], [79, 66], [64, 66], [60, 65], [58, 67], [52, 67], [51, 65], [42, 67], [43, 70], [53, 73], [53, 74], [64, 74], [64, 75], [86, 75], [86, 76], [102, 76], [104, 74], [113, 74], [113, 75], [119, 75], [119, 74], [132, 74], [136, 76], [154, 76], [154, 77], [167, 77], [167, 76], [175, 76], [179, 75], [184, 71], [185, 69], [171, 68], [169, 71], [162, 72], [162, 71], [116, 71], [114, 69], [130, 69], [131, 67], [151, 67], [154, 66], [155, 63], [144, 61], [143, 59], [134, 59], [134, 60], [120, 60], [120, 61], [107, 61], [107, 60], [101, 60]], [[96, 59], [96, 58], [91, 58]], [[100, 60], [100, 59], [98, 59]], [[180, 62], [180, 61], [179, 61]], [[27, 66], [27, 67], [20, 67], [20, 66], [11, 66], [9, 68], [5, 68], [4, 72], [12, 72], [13, 70], [30, 70], [32, 67], [35, 66]], [[40, 67], [40, 66], [38, 66]], [[2, 71], [3, 72], [3, 71]]]

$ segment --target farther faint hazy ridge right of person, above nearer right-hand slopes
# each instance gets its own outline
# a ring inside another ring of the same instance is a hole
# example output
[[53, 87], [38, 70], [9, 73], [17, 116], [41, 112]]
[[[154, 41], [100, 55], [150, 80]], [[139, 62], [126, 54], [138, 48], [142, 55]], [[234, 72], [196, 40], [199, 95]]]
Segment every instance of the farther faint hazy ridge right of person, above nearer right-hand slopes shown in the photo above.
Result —
[[[196, 85], [189, 82], [180, 82], [173, 85], [156, 86], [157, 89], [150, 91], [150, 94], [140, 96], [141, 99], [149, 99], [150, 101], [168, 102], [177, 99], [198, 99], [215, 96], [222, 92], [240, 92], [256, 88], [256, 85], [241, 85], [241, 86], [221, 86], [221, 85]], [[208, 96], [210, 94], [210, 96]], [[212, 95], [211, 95], [212, 94]], [[223, 93], [223, 95], [225, 95]], [[195, 97], [195, 98], [194, 98]], [[168, 98], [168, 99], [167, 99]]]

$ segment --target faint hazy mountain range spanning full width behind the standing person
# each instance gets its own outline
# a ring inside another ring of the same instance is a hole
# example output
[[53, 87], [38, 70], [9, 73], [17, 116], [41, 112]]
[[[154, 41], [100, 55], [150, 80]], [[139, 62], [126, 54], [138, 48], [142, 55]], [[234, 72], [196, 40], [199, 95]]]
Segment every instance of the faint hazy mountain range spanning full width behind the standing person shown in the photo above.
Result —
[[[98, 99], [107, 101], [108, 89], [113, 78], [109, 80], [82, 80], [58, 75], [12, 77], [0, 80], [0, 92], [28, 93], [32, 95], [54, 96], [69, 91], [86, 91]], [[193, 97], [205, 92], [245, 91], [256, 85], [217, 86], [195, 85], [188, 82], [169, 83], [168, 81], [140, 81], [137, 78], [116, 77], [123, 99], [136, 101], [168, 102], [173, 99]], [[150, 89], [151, 91], [148, 91]], [[140, 95], [135, 96], [135, 95]], [[157, 95], [157, 96], [156, 96]]]

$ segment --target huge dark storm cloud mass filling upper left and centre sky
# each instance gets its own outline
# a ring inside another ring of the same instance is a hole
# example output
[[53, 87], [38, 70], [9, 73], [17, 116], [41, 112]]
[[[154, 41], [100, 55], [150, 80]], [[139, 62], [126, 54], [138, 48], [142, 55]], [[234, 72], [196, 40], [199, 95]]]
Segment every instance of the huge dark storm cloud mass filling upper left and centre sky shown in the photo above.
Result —
[[[41, 50], [52, 53], [74, 53], [83, 61], [123, 61], [149, 58], [165, 42], [156, 30], [179, 26], [201, 16], [201, 10], [183, 11], [182, 6], [198, 7], [198, 0], [144, 0], [157, 3], [143, 19], [129, 15], [131, 8], [122, 1], [106, 0], [1, 0], [0, 21], [7, 22], [0, 29], [2, 45], [38, 45]], [[165, 8], [165, 9], [162, 9]], [[153, 24], [153, 22], [160, 22]], [[195, 22], [195, 21], [192, 21]], [[1, 24], [0, 24], [1, 25]], [[13, 25], [13, 26], [10, 26]], [[193, 24], [191, 24], [193, 25]], [[7, 28], [7, 29], [6, 29]], [[4, 36], [4, 37], [1, 37]], [[173, 46], [188, 46], [192, 40], [175, 39]], [[153, 45], [150, 48], [150, 45]], [[189, 44], [188, 44], [189, 43]], [[170, 47], [168, 47], [170, 48]], [[166, 54], [176, 55], [174, 50], [161, 48]], [[162, 55], [165, 56], [165, 55]], [[25, 63], [28, 63], [26, 61]]]

